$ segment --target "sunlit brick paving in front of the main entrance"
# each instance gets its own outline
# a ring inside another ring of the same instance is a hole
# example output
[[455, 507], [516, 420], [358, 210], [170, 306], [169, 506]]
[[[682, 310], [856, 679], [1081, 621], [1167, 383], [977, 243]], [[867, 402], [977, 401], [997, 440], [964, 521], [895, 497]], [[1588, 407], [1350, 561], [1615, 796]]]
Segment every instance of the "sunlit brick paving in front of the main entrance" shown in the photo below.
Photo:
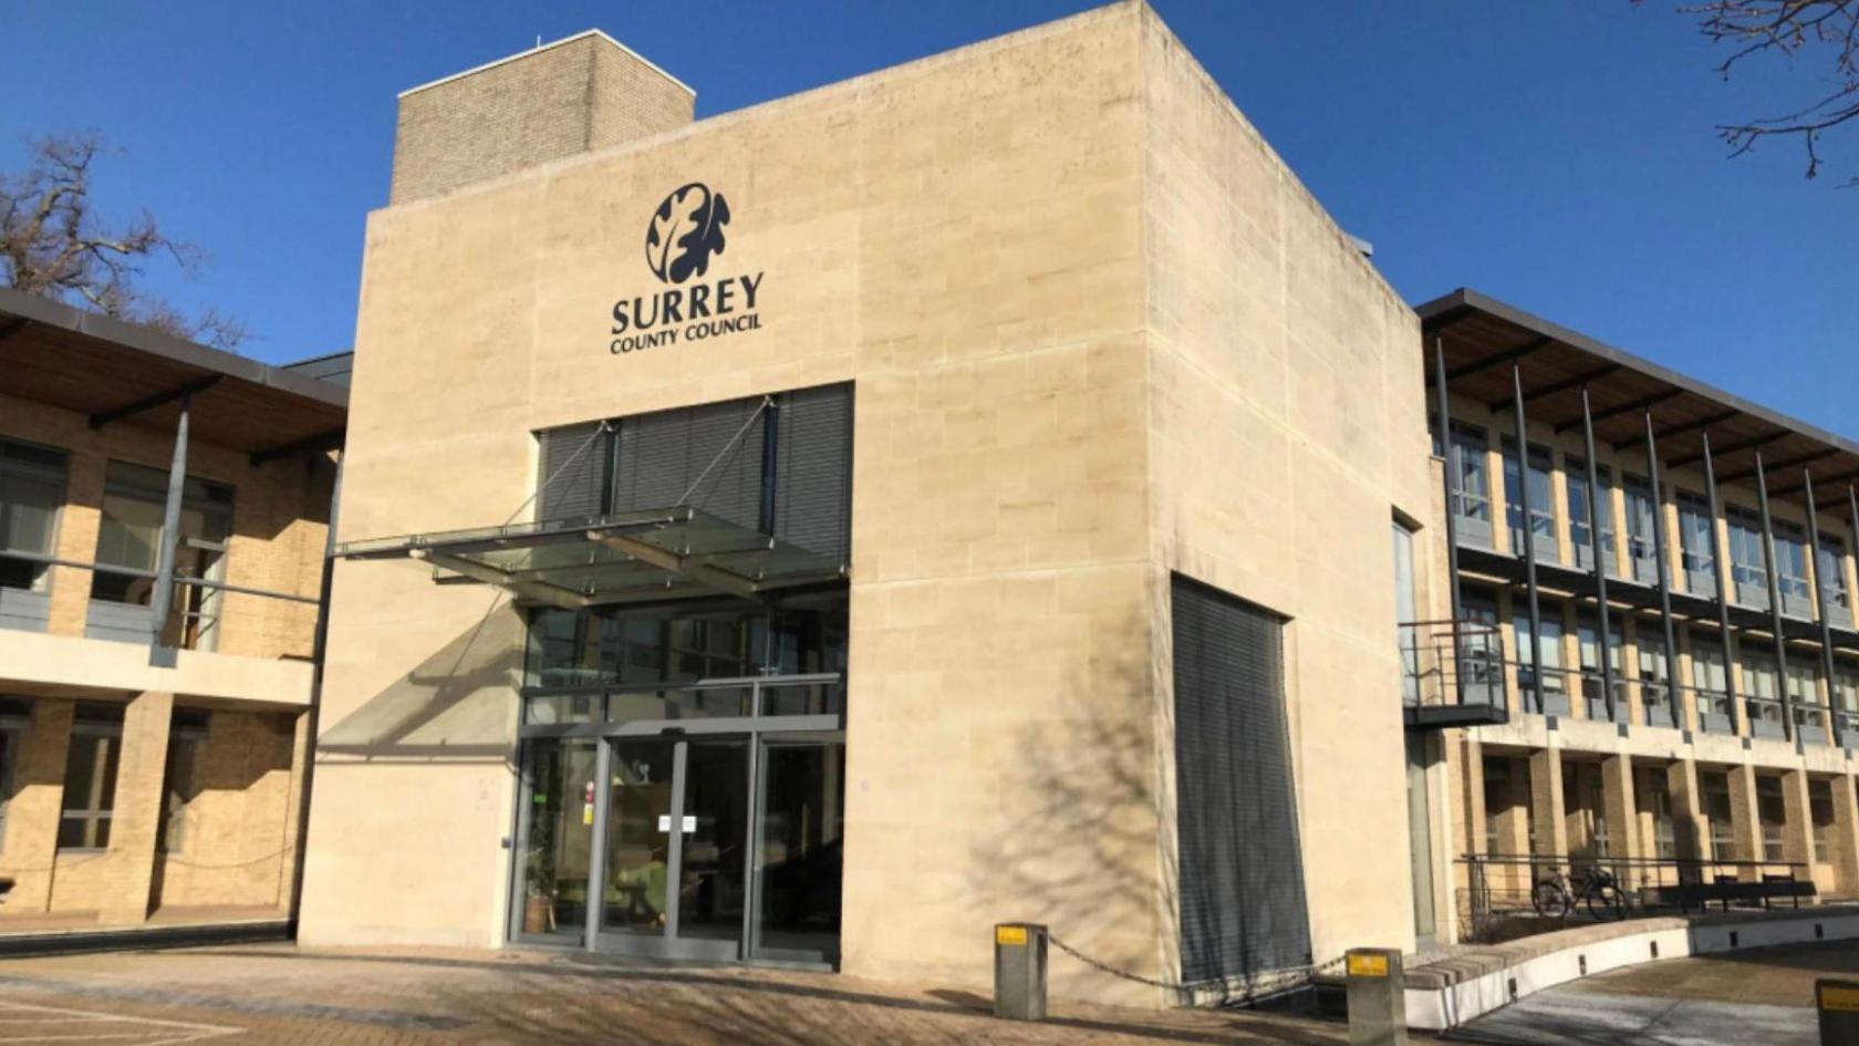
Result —
[[673, 968], [537, 951], [242, 945], [0, 960], [0, 1044], [1298, 1044], [1340, 1024], [1054, 1005], [833, 973]]

